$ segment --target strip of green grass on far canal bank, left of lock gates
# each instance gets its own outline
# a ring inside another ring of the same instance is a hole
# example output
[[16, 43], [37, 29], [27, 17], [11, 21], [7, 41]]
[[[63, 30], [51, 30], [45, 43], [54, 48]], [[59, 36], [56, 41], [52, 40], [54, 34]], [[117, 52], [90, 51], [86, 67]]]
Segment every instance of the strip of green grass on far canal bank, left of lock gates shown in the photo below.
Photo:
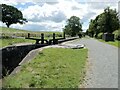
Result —
[[34, 40], [28, 40], [28, 39], [24, 39], [24, 38], [10, 38], [10, 39], [0, 39], [1, 47], [5, 47], [5, 46], [9, 46], [9, 45], [13, 45], [16, 43], [23, 43], [23, 42], [27, 42], [27, 43], [35, 43]]

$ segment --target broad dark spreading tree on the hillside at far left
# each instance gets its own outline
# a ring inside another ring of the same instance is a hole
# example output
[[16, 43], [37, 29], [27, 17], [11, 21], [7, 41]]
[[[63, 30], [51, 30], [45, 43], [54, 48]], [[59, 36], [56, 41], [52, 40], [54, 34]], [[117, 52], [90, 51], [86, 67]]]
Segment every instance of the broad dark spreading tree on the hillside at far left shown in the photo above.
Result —
[[11, 24], [24, 24], [27, 22], [27, 20], [23, 18], [22, 12], [17, 8], [6, 4], [0, 4], [0, 7], [2, 8], [2, 18], [0, 18], [0, 21], [5, 23], [8, 28]]

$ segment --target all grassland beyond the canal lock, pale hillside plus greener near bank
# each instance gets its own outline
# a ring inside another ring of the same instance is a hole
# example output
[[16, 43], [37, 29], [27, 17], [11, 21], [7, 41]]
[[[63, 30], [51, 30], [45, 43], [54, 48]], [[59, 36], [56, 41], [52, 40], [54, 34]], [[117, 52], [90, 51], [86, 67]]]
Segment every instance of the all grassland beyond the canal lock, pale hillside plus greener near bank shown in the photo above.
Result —
[[[0, 48], [5, 47], [8, 45], [13, 45], [16, 43], [35, 43], [35, 40], [28, 40], [24, 37], [28, 36], [28, 33], [30, 33], [30, 37], [34, 38], [41, 38], [41, 33], [44, 33], [45, 39], [51, 39], [53, 33], [56, 34], [56, 38], [62, 37], [62, 32], [36, 32], [36, 31], [27, 31], [27, 30], [20, 30], [20, 29], [14, 29], [14, 28], [6, 28], [6, 27], [0, 27]], [[23, 38], [12, 38], [12, 37], [23, 37]]]

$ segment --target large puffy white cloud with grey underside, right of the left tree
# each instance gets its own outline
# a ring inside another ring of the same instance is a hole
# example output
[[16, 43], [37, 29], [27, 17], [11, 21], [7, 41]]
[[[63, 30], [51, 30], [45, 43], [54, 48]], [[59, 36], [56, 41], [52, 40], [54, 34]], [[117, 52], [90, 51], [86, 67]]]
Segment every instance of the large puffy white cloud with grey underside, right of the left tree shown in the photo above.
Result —
[[22, 12], [25, 18], [33, 22], [48, 20], [61, 22], [66, 19], [66, 16], [62, 11], [48, 4], [44, 4], [42, 7], [39, 5], [30, 6]]

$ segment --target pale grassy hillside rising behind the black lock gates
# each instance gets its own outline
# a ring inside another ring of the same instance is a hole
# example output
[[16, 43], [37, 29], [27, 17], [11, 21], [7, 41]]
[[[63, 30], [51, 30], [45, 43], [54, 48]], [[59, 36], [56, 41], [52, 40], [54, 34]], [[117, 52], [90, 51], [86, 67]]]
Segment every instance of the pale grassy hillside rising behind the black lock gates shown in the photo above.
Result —
[[26, 37], [28, 33], [30, 33], [32, 37], [39, 37], [41, 33], [44, 33], [45, 36], [50, 36], [50, 37], [52, 36], [53, 33], [55, 33], [57, 37], [62, 36], [62, 32], [29, 31], [29, 30], [15, 29], [15, 28], [0, 27], [0, 34], [4, 36]]

